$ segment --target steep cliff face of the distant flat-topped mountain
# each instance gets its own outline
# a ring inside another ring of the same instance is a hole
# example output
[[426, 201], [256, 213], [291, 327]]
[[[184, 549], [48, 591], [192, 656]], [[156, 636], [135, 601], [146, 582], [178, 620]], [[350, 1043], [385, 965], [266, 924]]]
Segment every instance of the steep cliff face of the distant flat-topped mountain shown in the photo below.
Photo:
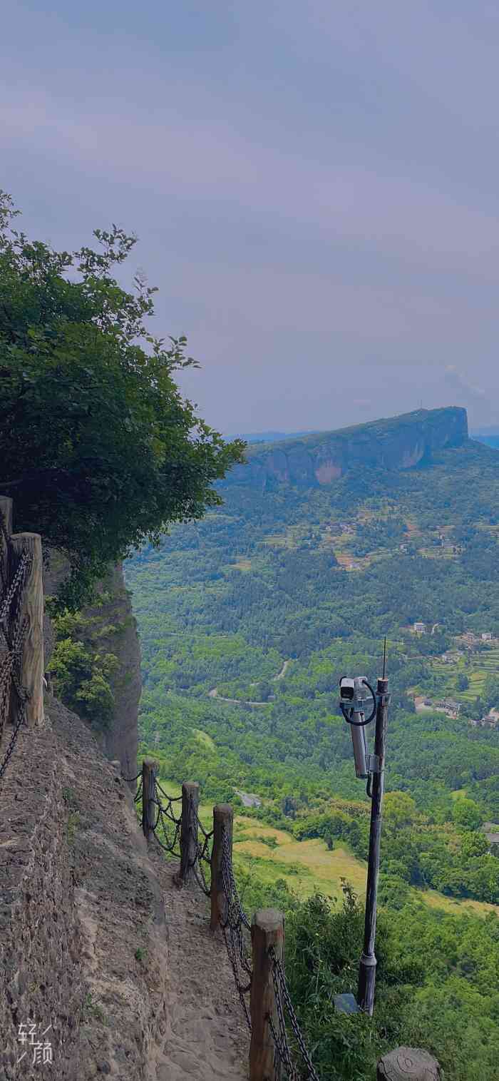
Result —
[[251, 446], [248, 464], [235, 466], [228, 482], [262, 489], [275, 482], [307, 488], [331, 484], [360, 466], [410, 469], [430, 461], [435, 451], [459, 446], [467, 439], [464, 409], [418, 410], [338, 431]]

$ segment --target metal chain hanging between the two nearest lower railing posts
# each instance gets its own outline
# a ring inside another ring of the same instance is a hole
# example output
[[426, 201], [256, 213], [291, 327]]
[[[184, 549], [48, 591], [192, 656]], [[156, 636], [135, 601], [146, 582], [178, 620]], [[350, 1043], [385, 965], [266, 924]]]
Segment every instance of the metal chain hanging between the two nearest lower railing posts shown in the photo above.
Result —
[[224, 919], [220, 919], [221, 933], [233, 972], [238, 995], [251, 1030], [252, 1022], [245, 999], [245, 995], [251, 990], [253, 977], [252, 963], [248, 956], [248, 933], [251, 935], [251, 926], [241, 905], [235, 885], [230, 841], [226, 829], [224, 829], [221, 842], [221, 880], [227, 902], [226, 916]]

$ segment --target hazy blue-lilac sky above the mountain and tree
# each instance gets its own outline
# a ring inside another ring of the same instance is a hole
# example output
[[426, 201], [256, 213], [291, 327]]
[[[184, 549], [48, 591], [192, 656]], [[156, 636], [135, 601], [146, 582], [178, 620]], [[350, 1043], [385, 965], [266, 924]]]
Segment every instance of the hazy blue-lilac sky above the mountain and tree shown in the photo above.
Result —
[[497, 3], [16, 0], [2, 28], [0, 186], [56, 248], [138, 236], [208, 424], [499, 427]]

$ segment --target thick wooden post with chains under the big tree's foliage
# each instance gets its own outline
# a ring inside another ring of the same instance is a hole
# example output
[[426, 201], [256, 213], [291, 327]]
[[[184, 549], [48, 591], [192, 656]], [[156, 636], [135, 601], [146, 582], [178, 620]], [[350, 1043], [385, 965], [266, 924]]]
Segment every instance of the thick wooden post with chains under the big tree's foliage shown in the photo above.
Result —
[[[11, 552], [9, 558], [9, 578], [12, 582], [19, 559], [27, 552], [30, 564], [25, 576], [21, 597], [19, 619], [28, 622], [21, 654], [21, 685], [28, 694], [26, 702], [26, 720], [29, 725], [43, 724], [43, 584], [42, 584], [42, 548], [39, 533], [13, 533], [11, 536]], [[16, 694], [13, 692], [14, 713], [16, 716]]]

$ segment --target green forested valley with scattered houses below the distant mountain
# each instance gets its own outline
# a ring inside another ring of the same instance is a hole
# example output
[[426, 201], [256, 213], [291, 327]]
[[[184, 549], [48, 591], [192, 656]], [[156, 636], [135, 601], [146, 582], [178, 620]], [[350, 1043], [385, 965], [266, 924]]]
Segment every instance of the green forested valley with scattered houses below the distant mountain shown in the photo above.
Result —
[[[321, 488], [229, 475], [221, 507], [125, 564], [141, 750], [172, 782], [199, 780], [205, 805], [237, 808], [245, 900], [288, 912], [288, 971], [324, 1078], [338, 1056], [342, 1077], [372, 1077], [396, 1040], [433, 1050], [446, 1078], [499, 1076], [497, 463], [469, 441]], [[374, 682], [385, 636], [373, 1040], [332, 1006], [354, 989], [368, 839], [338, 680]]]

